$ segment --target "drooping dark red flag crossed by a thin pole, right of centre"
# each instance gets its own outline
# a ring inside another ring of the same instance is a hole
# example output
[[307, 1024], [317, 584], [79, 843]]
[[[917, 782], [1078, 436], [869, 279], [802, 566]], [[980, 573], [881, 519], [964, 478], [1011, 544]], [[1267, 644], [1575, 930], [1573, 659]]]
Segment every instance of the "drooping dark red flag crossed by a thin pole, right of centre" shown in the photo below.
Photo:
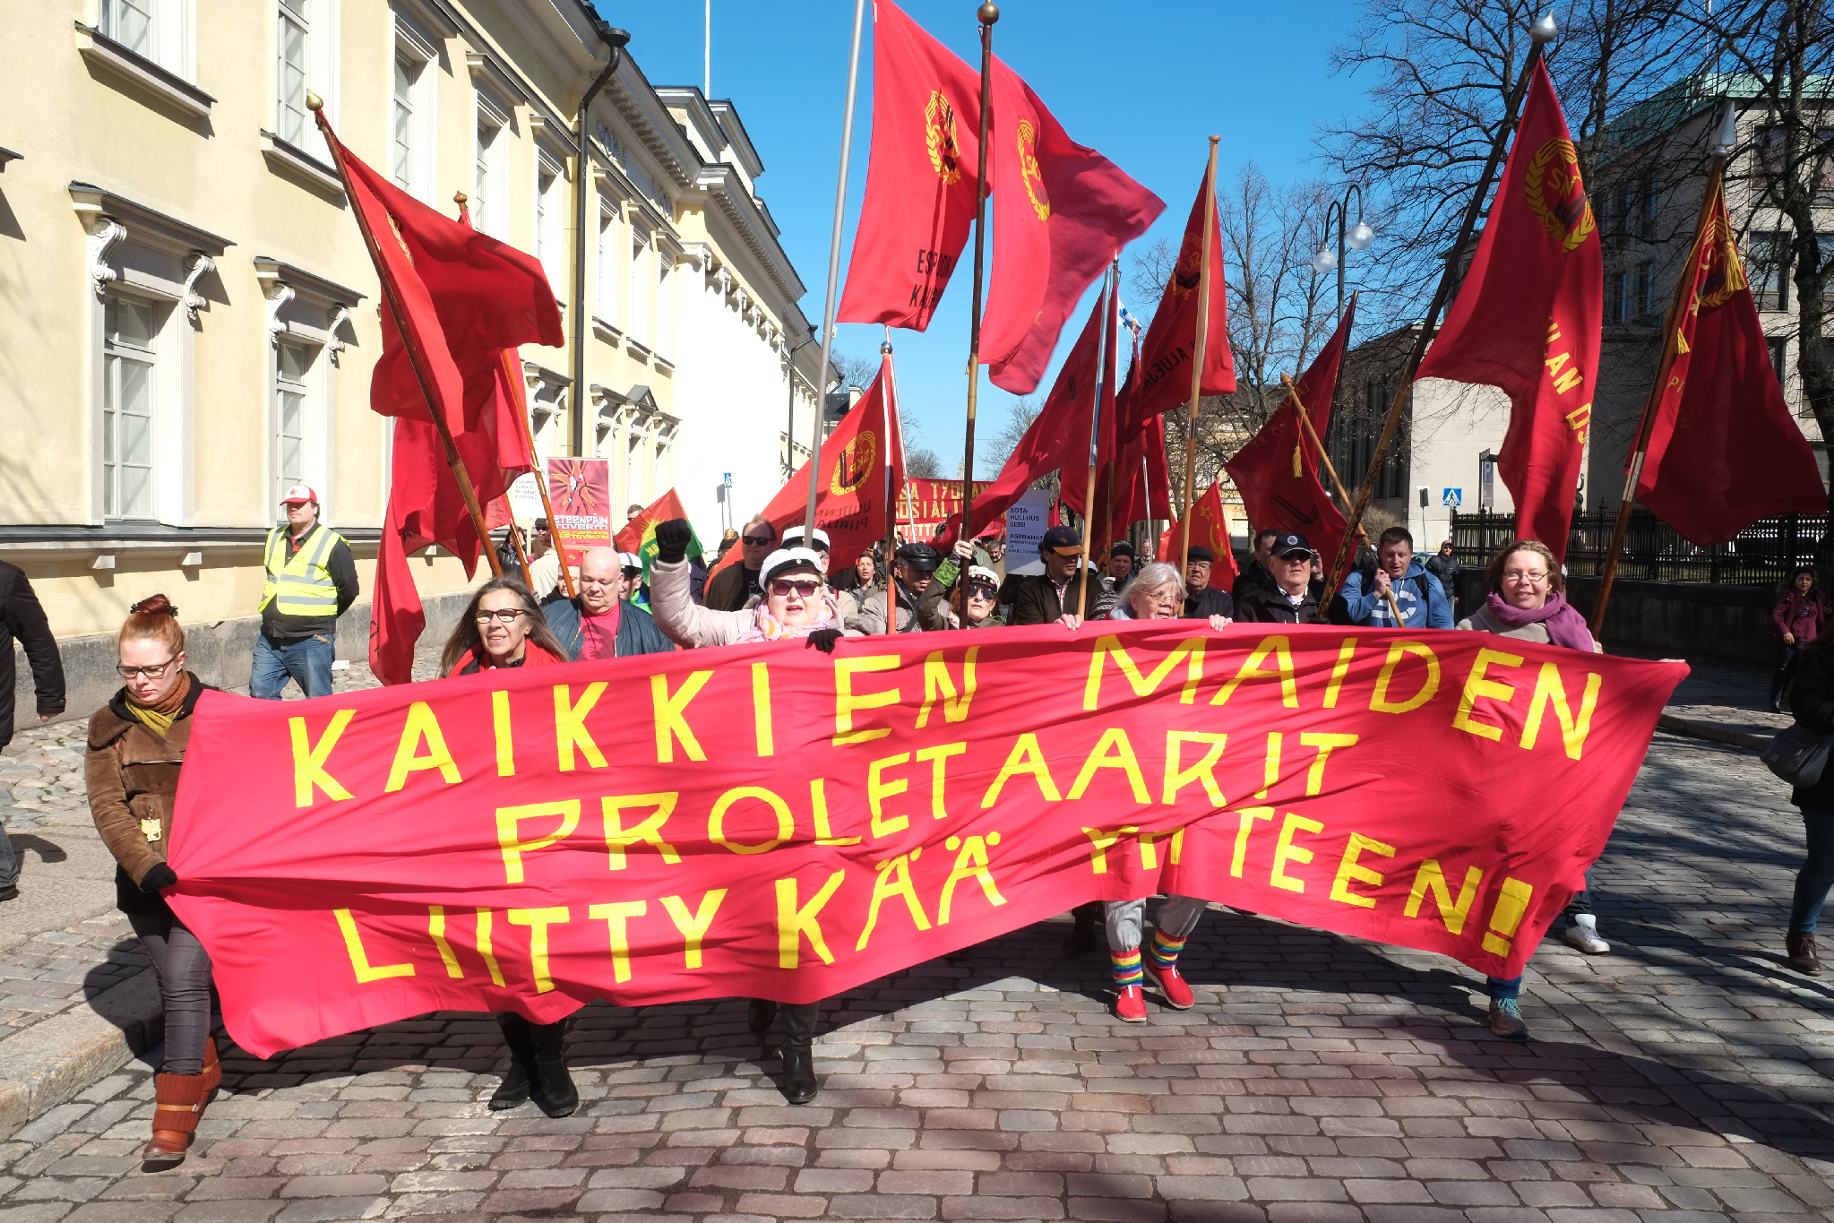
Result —
[[[1331, 427], [1331, 398], [1337, 394], [1337, 369], [1350, 343], [1350, 325], [1357, 299], [1337, 323], [1324, 350], [1298, 380], [1298, 398], [1311, 414], [1311, 427], [1322, 438]], [[1348, 523], [1319, 484], [1319, 447], [1298, 424], [1293, 396], [1267, 418], [1247, 446], [1223, 464], [1242, 493], [1242, 508], [1256, 528], [1302, 532], [1320, 556], [1337, 556]]]

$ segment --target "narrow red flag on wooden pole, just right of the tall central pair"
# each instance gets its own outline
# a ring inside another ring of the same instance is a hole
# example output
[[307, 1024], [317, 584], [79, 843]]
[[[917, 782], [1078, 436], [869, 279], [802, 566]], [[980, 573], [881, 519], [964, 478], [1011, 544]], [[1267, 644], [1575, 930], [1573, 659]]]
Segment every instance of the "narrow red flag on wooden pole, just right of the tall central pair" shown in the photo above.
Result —
[[[1137, 425], [1190, 402], [1190, 354], [1198, 347], [1198, 284], [1203, 279], [1203, 183], [1185, 222], [1177, 264], [1165, 297], [1141, 343], [1137, 389], [1121, 403], [1121, 429]], [[1236, 361], [1229, 352], [1229, 282], [1223, 277], [1223, 229], [1210, 209], [1210, 314], [1205, 321], [1201, 394], [1236, 389]]]

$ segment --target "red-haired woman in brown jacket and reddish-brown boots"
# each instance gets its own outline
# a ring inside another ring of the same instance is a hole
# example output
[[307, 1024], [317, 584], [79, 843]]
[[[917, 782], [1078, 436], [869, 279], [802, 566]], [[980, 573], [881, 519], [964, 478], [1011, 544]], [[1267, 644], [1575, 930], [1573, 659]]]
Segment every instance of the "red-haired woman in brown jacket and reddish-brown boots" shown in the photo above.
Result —
[[141, 1159], [171, 1166], [185, 1159], [224, 1076], [211, 1040], [211, 957], [160, 895], [178, 884], [165, 847], [191, 711], [205, 684], [185, 671], [185, 631], [163, 594], [134, 603], [117, 647], [127, 684], [90, 717], [84, 776], [95, 829], [119, 864], [116, 904], [160, 977], [165, 1065], [154, 1078], [152, 1140]]

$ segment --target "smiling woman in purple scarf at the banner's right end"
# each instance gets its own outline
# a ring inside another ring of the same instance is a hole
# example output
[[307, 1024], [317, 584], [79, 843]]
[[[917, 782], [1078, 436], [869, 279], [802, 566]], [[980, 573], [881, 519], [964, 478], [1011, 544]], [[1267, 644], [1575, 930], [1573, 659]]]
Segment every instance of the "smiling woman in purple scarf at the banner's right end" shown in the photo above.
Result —
[[[1497, 554], [1487, 576], [1489, 598], [1476, 612], [1458, 622], [1460, 629], [1605, 653], [1586, 631], [1586, 618], [1561, 594], [1566, 581], [1548, 545], [1539, 539], [1517, 539]], [[1610, 942], [1599, 937], [1588, 893], [1590, 886], [1574, 893], [1566, 906], [1566, 941], [1588, 955], [1603, 955], [1610, 950]], [[1491, 1032], [1504, 1040], [1526, 1041], [1528, 1023], [1519, 1003], [1522, 977], [1513, 981], [1491, 977], [1487, 986]]]

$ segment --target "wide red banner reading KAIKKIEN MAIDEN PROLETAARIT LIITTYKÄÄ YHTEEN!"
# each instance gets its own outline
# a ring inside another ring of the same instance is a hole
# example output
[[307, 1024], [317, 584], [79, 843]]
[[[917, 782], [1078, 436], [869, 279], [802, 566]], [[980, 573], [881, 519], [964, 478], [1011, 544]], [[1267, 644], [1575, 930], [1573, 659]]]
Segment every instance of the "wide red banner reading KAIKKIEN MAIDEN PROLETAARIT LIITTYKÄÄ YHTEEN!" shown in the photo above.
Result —
[[811, 1001], [1155, 891], [1509, 977], [1685, 673], [1100, 622], [205, 693], [171, 895], [260, 1056], [427, 1010]]

